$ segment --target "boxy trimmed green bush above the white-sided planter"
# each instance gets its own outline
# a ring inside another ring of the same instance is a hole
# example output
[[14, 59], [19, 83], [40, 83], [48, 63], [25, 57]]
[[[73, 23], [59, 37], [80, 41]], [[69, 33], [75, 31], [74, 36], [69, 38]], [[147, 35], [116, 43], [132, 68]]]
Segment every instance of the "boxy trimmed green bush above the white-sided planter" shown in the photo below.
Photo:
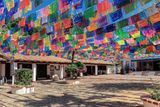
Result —
[[32, 70], [19, 69], [16, 70], [16, 85], [27, 86], [32, 83]]

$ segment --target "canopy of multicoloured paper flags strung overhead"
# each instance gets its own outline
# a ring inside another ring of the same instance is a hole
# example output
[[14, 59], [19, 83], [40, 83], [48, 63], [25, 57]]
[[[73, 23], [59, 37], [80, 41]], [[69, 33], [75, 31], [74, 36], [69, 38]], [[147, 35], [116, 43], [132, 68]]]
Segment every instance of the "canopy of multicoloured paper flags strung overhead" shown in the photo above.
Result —
[[[0, 0], [2, 53], [115, 61], [158, 56], [160, 0]], [[33, 11], [36, 10], [36, 11]], [[29, 14], [30, 13], [30, 14]]]

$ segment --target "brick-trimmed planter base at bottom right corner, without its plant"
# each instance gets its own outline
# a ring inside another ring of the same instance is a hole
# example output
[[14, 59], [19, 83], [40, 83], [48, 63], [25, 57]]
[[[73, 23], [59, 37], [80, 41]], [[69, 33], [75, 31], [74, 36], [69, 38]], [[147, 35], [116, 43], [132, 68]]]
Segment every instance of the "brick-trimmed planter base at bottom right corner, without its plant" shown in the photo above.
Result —
[[144, 107], [160, 107], [160, 101], [151, 99], [149, 96], [141, 97]]

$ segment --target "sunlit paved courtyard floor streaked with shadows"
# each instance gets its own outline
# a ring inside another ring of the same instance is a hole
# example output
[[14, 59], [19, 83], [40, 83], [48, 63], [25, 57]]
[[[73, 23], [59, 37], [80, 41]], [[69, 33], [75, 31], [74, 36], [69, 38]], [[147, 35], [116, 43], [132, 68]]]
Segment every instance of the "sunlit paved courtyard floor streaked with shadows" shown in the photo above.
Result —
[[35, 93], [29, 95], [10, 94], [10, 85], [4, 85], [0, 86], [0, 107], [143, 107], [140, 96], [152, 87], [150, 78], [87, 76], [78, 85], [38, 81]]

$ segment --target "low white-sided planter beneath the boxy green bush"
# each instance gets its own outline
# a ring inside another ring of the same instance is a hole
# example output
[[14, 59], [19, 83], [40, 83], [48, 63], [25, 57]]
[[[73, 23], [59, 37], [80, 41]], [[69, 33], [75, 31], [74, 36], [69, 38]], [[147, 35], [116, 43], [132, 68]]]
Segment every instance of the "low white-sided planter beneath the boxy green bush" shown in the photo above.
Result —
[[13, 94], [30, 94], [34, 93], [34, 86], [12, 86], [11, 93]]

